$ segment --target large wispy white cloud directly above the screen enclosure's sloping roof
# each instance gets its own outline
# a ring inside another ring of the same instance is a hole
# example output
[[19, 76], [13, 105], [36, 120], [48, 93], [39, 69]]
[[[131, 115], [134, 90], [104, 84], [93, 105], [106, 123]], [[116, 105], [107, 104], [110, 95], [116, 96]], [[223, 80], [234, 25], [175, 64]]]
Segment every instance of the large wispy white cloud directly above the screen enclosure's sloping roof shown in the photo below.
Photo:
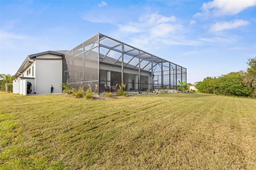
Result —
[[[176, 23], [175, 16], [167, 17], [158, 13], [142, 15], [138, 18], [138, 21], [129, 22], [127, 25], [119, 24], [118, 26], [119, 33], [115, 32], [115, 35], [119, 34], [120, 37], [126, 37], [126, 39], [131, 40], [132, 45], [143, 49], [146, 49], [146, 46], [149, 47], [149, 45], [154, 46], [159, 42], [164, 44], [175, 43], [176, 40], [174, 41], [173, 37], [183, 29], [181, 24]], [[169, 37], [172, 37], [172, 40], [168, 39]], [[181, 43], [180, 40], [178, 41], [178, 43]], [[154, 46], [154, 48], [158, 47]]]

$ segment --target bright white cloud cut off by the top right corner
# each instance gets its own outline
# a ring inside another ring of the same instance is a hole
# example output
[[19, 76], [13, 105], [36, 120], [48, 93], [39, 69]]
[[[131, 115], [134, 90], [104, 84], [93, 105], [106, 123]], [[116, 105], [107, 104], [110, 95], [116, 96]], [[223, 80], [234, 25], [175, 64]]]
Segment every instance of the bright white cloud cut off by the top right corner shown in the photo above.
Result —
[[194, 14], [194, 17], [233, 16], [252, 6], [256, 6], [256, 0], [214, 0], [204, 2], [202, 12]]

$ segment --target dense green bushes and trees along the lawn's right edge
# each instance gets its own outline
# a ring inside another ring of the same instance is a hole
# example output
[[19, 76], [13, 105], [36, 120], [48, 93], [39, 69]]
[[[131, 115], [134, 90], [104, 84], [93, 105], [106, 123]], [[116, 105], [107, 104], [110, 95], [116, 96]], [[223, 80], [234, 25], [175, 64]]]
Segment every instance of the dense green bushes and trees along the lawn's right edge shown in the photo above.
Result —
[[202, 93], [256, 98], [256, 57], [246, 63], [249, 66], [246, 71], [206, 77], [196, 84], [196, 89]]

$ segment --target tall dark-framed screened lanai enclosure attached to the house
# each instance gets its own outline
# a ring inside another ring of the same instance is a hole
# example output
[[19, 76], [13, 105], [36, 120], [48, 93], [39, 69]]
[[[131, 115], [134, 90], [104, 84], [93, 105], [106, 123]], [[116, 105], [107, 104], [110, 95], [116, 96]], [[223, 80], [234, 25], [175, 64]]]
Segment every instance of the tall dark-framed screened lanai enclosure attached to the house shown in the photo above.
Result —
[[128, 92], [176, 89], [179, 80], [186, 81], [186, 68], [100, 33], [63, 59], [63, 82], [95, 93], [122, 83]]

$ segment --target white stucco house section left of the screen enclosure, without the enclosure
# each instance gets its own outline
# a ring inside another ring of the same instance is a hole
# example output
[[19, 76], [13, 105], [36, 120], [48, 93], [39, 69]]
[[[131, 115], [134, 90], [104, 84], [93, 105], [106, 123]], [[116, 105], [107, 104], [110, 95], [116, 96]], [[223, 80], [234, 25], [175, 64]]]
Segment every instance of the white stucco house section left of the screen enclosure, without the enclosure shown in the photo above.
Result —
[[44, 51], [28, 55], [13, 81], [13, 93], [27, 95], [27, 82], [31, 83], [30, 94], [48, 94], [51, 86], [54, 93], [62, 93], [62, 59], [66, 51]]

